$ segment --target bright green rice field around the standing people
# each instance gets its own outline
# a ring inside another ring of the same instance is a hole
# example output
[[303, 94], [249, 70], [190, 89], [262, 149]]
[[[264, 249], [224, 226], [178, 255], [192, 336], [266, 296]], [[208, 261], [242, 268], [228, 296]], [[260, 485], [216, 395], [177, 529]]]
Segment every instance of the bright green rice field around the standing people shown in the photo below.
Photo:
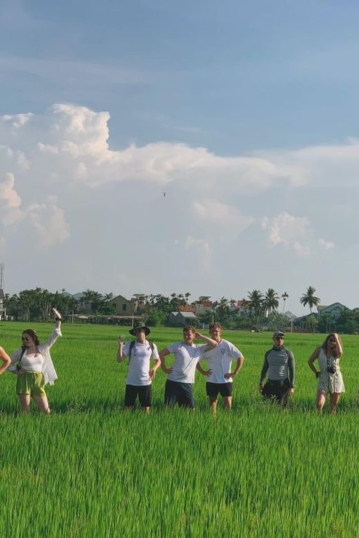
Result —
[[[52, 326], [30, 324], [48, 337]], [[0, 323], [0, 345], [21, 344], [28, 323]], [[324, 335], [287, 335], [296, 359], [289, 411], [258, 392], [271, 333], [224, 331], [244, 354], [233, 410], [213, 417], [197, 372], [196, 410], [164, 410], [157, 371], [151, 415], [123, 412], [128, 328], [64, 325], [52, 348], [59, 379], [52, 414], [19, 414], [16, 377], [0, 377], [1, 537], [353, 538], [359, 536], [358, 336], [343, 336], [346, 392], [336, 415], [315, 411], [307, 366]], [[160, 349], [182, 339], [155, 328]], [[168, 364], [170, 361], [168, 360]], [[233, 364], [234, 368], [234, 364]]]

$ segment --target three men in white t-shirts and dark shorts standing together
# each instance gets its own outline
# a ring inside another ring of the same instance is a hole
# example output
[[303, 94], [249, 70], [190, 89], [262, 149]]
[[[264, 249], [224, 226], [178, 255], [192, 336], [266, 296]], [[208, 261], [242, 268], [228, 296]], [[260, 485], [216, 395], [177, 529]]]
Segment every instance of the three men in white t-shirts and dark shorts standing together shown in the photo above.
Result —
[[[160, 352], [154, 343], [146, 340], [150, 332], [147, 326], [142, 325], [130, 330], [130, 335], [136, 337], [135, 342], [128, 342], [124, 346], [124, 340], [121, 337], [118, 339], [117, 361], [122, 362], [129, 357], [125, 391], [127, 410], [133, 408], [138, 395], [140, 405], [149, 412], [152, 404], [151, 381], [159, 366], [167, 374], [164, 390], [166, 406], [173, 407], [177, 403], [180, 407], [195, 408], [193, 383], [197, 369], [207, 377], [206, 392], [213, 412], [217, 408], [219, 394], [223, 398], [224, 408], [231, 409], [232, 381], [242, 368], [244, 357], [232, 343], [222, 339], [222, 328], [219, 323], [212, 323], [209, 327], [210, 337], [201, 335], [192, 326], [186, 326], [183, 328], [183, 341], [175, 342]], [[196, 344], [195, 339], [200, 339], [204, 343]], [[175, 360], [173, 366], [168, 368], [165, 357], [171, 354], [175, 355]], [[155, 360], [155, 364], [150, 369], [151, 357]], [[202, 360], [206, 361], [207, 370], [200, 365]], [[235, 369], [231, 372], [233, 360], [236, 363]]]

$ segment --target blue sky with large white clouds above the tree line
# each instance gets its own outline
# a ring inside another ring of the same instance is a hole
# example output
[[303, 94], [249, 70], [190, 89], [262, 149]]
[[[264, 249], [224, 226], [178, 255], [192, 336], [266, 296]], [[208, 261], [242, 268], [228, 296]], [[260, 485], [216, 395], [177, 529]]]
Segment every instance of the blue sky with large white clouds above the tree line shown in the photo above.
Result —
[[311, 285], [359, 306], [358, 19], [351, 1], [2, 1], [7, 290], [273, 287], [301, 313]]

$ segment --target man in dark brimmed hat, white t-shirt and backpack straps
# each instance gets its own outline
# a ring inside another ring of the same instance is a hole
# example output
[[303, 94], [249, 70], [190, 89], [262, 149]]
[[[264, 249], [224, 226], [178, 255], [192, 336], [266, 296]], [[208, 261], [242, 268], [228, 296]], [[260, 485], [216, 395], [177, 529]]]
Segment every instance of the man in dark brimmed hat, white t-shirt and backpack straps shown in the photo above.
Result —
[[[125, 410], [130, 411], [135, 406], [138, 396], [139, 404], [144, 412], [150, 412], [152, 406], [152, 381], [156, 370], [159, 368], [158, 350], [155, 343], [147, 341], [146, 337], [151, 330], [146, 325], [137, 326], [130, 331], [130, 335], [136, 337], [124, 346], [124, 340], [119, 337], [117, 342], [117, 362], [122, 362], [128, 357], [128, 375], [126, 378]], [[150, 369], [150, 359], [155, 359], [155, 365]]]

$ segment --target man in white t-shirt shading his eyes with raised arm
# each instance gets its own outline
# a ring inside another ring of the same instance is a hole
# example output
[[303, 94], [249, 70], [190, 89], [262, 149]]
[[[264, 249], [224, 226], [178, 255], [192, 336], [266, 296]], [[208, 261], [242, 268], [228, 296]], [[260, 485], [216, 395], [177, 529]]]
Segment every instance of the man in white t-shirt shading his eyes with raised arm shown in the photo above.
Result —
[[[205, 343], [195, 344], [193, 343], [195, 338], [203, 340]], [[164, 390], [165, 406], [173, 407], [177, 402], [180, 407], [195, 408], [193, 397], [195, 369], [204, 352], [215, 348], [215, 346], [217, 346], [217, 342], [200, 335], [200, 332], [196, 332], [194, 327], [187, 325], [183, 328], [182, 342], [173, 343], [159, 352], [161, 368], [165, 374], [168, 374]], [[170, 353], [175, 355], [175, 362], [172, 368], [167, 368], [164, 357]], [[203, 375], [210, 373], [202, 368], [200, 371]]]

